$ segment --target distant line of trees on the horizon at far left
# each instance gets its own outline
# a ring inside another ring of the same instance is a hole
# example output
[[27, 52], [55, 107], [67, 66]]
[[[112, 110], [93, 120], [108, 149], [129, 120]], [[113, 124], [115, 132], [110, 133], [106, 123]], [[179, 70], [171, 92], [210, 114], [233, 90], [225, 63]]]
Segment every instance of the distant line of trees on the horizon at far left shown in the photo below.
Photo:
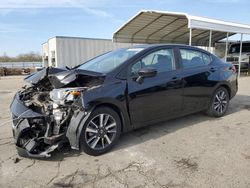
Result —
[[20, 54], [16, 57], [9, 57], [6, 53], [0, 56], [0, 62], [41, 62], [42, 56], [39, 53], [30, 52]]

